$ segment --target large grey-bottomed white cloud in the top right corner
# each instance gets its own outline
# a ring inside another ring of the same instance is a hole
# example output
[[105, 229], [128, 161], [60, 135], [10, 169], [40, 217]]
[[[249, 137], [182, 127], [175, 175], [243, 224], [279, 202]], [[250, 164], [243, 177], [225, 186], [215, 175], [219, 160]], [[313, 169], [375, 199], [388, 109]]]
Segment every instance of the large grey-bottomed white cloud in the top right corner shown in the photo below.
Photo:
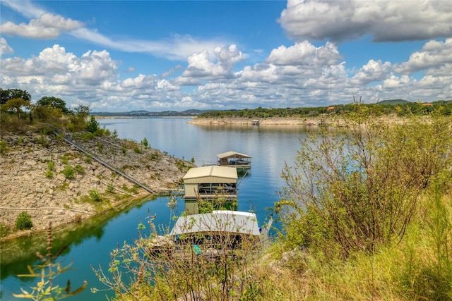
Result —
[[371, 35], [376, 42], [450, 37], [449, 1], [289, 0], [279, 22], [289, 37], [345, 41]]

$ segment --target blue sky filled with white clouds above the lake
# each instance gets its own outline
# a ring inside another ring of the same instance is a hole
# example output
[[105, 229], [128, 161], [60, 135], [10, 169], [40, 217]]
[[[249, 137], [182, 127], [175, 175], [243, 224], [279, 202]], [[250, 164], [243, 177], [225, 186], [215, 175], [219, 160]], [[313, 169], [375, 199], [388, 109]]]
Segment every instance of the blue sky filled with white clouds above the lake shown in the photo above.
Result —
[[93, 112], [452, 99], [450, 1], [5, 1], [0, 87]]

